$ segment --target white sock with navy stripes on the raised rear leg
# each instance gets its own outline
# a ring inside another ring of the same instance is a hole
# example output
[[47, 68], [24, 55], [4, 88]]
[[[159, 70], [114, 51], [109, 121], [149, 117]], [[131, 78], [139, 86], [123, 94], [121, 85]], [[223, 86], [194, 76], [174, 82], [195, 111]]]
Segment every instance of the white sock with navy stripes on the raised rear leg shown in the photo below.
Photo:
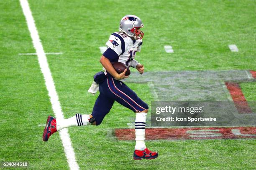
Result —
[[71, 126], [86, 126], [90, 125], [89, 119], [90, 115], [81, 115], [81, 114], [76, 114], [73, 117], [70, 117], [68, 119], [56, 119], [56, 124], [57, 124], [57, 131], [71, 127]]

